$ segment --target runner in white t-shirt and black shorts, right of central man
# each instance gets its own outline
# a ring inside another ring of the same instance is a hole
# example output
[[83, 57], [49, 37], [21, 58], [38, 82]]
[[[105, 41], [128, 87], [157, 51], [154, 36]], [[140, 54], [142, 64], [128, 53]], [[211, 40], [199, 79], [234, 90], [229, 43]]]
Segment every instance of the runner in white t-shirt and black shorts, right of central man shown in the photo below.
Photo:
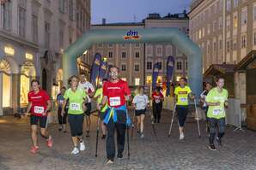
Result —
[[137, 117], [137, 131], [140, 138], [144, 138], [143, 127], [144, 118], [147, 106], [149, 107], [149, 97], [144, 94], [143, 87], [138, 87], [139, 94], [133, 98], [133, 107], [135, 108], [135, 115]]

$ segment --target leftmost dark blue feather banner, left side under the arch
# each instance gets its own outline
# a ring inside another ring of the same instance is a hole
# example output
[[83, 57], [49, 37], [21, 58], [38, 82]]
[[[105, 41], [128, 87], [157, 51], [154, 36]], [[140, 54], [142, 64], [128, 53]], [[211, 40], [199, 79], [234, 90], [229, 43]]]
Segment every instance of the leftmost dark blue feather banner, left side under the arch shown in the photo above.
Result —
[[96, 79], [99, 76], [100, 68], [101, 68], [101, 54], [96, 53], [94, 56], [93, 66], [91, 67], [91, 77], [90, 77], [90, 83], [93, 85], [96, 84]]

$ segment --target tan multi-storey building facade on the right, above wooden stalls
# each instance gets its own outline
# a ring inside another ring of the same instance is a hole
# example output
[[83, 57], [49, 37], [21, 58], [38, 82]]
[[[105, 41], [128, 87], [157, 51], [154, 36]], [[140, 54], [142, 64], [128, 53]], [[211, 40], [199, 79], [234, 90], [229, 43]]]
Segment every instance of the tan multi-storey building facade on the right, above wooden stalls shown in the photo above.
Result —
[[[190, 37], [203, 52], [203, 73], [212, 64], [238, 64], [256, 48], [255, 0], [193, 0]], [[246, 74], [235, 73], [235, 97], [246, 103]]]

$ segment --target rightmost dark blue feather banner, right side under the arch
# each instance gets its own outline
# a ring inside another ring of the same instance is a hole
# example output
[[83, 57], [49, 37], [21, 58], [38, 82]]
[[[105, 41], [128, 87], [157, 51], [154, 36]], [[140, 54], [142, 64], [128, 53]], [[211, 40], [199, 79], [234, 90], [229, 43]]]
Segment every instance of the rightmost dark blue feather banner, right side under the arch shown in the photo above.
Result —
[[166, 96], [168, 97], [170, 95], [170, 88], [171, 88], [171, 83], [173, 81], [173, 76], [174, 76], [174, 56], [168, 56], [168, 62], [167, 62], [167, 91], [166, 91]]

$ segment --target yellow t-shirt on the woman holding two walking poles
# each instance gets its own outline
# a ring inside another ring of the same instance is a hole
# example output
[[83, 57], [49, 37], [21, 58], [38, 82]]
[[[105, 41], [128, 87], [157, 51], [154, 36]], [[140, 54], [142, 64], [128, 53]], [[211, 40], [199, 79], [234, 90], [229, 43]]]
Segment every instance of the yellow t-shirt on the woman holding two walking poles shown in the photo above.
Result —
[[181, 88], [180, 86], [176, 87], [174, 90], [174, 94], [178, 97], [177, 105], [179, 106], [187, 106], [188, 105], [188, 94], [191, 93], [191, 89], [189, 86], [184, 86]]

